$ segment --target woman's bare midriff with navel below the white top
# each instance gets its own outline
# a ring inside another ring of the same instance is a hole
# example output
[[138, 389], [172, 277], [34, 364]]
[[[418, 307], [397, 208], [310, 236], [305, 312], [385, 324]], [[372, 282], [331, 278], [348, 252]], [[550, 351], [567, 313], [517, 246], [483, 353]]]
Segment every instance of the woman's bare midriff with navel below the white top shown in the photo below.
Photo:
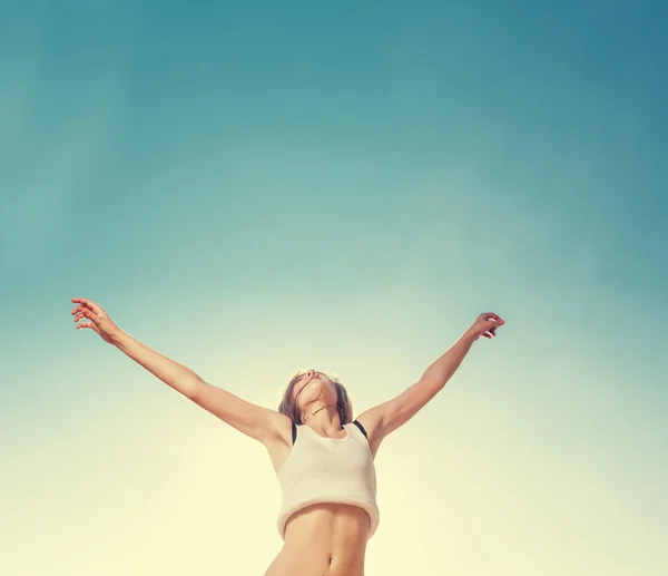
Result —
[[285, 543], [265, 576], [364, 576], [371, 525], [355, 506], [318, 504], [288, 520]]

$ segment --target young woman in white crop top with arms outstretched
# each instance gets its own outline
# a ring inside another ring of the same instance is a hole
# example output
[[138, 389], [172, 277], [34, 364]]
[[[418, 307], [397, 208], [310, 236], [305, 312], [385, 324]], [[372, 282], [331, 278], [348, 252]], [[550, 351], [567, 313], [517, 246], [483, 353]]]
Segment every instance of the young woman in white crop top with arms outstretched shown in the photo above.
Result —
[[416, 383], [353, 420], [345, 388], [323, 372], [298, 372], [278, 411], [203, 381], [120, 330], [95, 302], [72, 299], [77, 329], [89, 328], [166, 384], [262, 442], [283, 505], [283, 548], [265, 576], [363, 576], [366, 543], [379, 525], [374, 458], [383, 439], [410, 420], [450, 380], [473, 342], [504, 324], [480, 314]]

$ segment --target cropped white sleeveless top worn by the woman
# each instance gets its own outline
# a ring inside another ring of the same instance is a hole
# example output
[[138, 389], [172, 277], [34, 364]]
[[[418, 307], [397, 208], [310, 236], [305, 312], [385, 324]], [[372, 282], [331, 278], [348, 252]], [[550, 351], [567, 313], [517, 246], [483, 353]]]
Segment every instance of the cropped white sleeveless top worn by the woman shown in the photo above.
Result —
[[344, 424], [344, 438], [325, 438], [308, 426], [297, 436], [277, 478], [283, 495], [278, 533], [285, 539], [291, 516], [314, 504], [347, 504], [369, 514], [370, 538], [379, 520], [376, 477], [366, 437], [356, 424]]

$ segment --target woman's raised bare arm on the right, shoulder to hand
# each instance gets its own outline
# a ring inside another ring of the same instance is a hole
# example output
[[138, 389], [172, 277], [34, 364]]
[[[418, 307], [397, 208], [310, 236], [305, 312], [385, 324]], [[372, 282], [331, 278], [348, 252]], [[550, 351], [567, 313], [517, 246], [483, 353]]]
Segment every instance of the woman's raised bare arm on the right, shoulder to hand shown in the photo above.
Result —
[[416, 383], [396, 398], [360, 414], [357, 420], [369, 435], [372, 452], [375, 453], [383, 438], [406, 423], [443, 389], [463, 362], [473, 342], [480, 336], [491, 340], [495, 336], [497, 329], [504, 323], [491, 312], [480, 314], [473, 325], [424, 371]]

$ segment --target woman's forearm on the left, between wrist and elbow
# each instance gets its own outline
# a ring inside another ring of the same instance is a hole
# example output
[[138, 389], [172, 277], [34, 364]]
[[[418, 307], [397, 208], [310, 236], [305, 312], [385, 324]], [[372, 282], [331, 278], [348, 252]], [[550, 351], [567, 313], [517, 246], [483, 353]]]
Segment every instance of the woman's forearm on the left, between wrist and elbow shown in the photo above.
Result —
[[112, 343], [124, 354], [187, 398], [193, 398], [202, 383], [202, 379], [193, 370], [151, 350], [125, 332], [117, 334]]

